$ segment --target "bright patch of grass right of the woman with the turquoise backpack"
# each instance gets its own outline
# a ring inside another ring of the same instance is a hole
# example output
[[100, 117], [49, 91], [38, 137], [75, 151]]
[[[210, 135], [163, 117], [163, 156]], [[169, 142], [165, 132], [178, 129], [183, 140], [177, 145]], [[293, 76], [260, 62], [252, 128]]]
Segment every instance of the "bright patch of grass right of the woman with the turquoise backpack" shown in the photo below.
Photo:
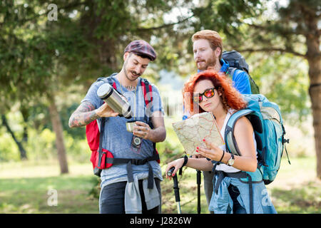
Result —
[[267, 190], [279, 213], [321, 213], [321, 181], [315, 157], [283, 159], [277, 178]]

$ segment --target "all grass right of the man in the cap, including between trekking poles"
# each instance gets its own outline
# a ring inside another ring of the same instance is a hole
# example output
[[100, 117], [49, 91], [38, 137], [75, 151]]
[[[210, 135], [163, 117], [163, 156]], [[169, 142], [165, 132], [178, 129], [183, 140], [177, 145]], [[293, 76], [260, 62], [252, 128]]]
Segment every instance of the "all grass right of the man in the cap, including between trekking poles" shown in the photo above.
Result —
[[[291, 165], [283, 157], [280, 170], [275, 180], [266, 185], [275, 209], [280, 214], [292, 213], [321, 213], [321, 181], [316, 177], [315, 157], [302, 156], [290, 158]], [[185, 169], [180, 178], [180, 201], [183, 213], [197, 212], [196, 172]], [[203, 177], [202, 177], [203, 183]], [[173, 181], [168, 180], [162, 186], [163, 212], [176, 212], [173, 197]], [[208, 213], [208, 205], [201, 186], [201, 213]]]

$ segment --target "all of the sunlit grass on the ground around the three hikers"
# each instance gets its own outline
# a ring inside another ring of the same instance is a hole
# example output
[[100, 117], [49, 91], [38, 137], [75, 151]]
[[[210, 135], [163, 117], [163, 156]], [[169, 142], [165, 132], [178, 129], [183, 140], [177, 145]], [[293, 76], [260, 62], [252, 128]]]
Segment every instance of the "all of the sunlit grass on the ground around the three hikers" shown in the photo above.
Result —
[[[315, 157], [295, 157], [291, 163], [282, 160], [276, 180], [267, 185], [277, 212], [321, 213], [321, 182], [315, 175]], [[59, 174], [56, 162], [41, 164], [0, 164], [0, 213], [98, 213], [98, 199], [90, 194], [97, 183], [90, 163], [69, 165], [67, 175]], [[183, 213], [197, 213], [195, 176], [196, 171], [190, 168], [178, 176]], [[164, 180], [161, 185], [162, 212], [176, 213], [173, 181]], [[208, 206], [203, 178], [200, 190], [201, 213], [205, 214]]]

